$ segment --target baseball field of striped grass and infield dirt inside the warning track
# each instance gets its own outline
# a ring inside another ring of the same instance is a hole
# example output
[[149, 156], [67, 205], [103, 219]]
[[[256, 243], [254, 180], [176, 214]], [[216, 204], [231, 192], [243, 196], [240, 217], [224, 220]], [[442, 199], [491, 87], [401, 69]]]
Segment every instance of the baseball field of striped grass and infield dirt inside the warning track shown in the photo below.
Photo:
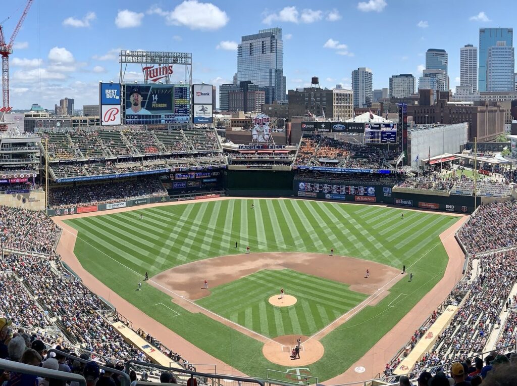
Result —
[[[323, 381], [345, 372], [438, 283], [448, 260], [439, 234], [458, 219], [384, 206], [230, 199], [65, 222], [78, 230], [74, 252], [87, 271], [195, 346], [264, 377], [266, 368], [287, 368], [266, 358], [265, 343], [304, 336], [324, 348], [306, 366]], [[296, 304], [270, 304], [280, 288]]]

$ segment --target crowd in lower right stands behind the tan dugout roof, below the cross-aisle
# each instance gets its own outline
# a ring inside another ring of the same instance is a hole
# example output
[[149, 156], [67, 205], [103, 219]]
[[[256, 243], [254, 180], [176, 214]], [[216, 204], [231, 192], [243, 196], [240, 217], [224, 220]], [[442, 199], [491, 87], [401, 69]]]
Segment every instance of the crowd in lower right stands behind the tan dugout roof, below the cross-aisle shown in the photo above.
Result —
[[[515, 344], [517, 310], [512, 312], [511, 305], [515, 304], [517, 296], [511, 297], [510, 291], [517, 281], [517, 250], [480, 257], [476, 272], [471, 259], [467, 272], [468, 275], [444, 302], [446, 306], [458, 305], [457, 312], [437, 337], [431, 351], [424, 353], [415, 364], [410, 377], [418, 376], [423, 369], [438, 372], [446, 363], [462, 361], [483, 352], [492, 333], [499, 332], [496, 348]], [[505, 274], [501, 275], [501, 272]], [[508, 313], [505, 323], [501, 322], [501, 312]], [[436, 319], [436, 311], [433, 316], [431, 322]], [[410, 346], [414, 347], [425, 335], [425, 329], [416, 331]], [[492, 360], [496, 355], [492, 355]], [[385, 376], [391, 378], [393, 369], [399, 364], [400, 359], [391, 366], [387, 364]]]

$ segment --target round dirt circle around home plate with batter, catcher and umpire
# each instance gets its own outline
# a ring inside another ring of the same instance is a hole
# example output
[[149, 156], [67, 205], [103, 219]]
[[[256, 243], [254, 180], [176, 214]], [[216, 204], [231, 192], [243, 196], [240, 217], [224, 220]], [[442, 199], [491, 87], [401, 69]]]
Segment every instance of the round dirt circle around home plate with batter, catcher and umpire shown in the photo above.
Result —
[[[300, 359], [291, 358], [291, 350], [296, 347], [296, 339], [301, 338], [300, 345]], [[270, 362], [276, 363], [281, 366], [306, 366], [319, 361], [325, 349], [323, 345], [316, 340], [308, 336], [299, 335], [283, 335], [273, 338], [273, 341], [266, 343], [262, 347], [262, 353], [264, 357]]]

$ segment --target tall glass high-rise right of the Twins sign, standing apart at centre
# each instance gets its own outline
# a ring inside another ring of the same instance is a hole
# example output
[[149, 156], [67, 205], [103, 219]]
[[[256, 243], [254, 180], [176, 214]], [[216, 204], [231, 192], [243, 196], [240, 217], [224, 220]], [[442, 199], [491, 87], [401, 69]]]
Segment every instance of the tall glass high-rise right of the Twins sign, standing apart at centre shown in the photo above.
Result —
[[251, 81], [270, 87], [266, 103], [285, 100], [284, 49], [282, 28], [261, 29], [258, 34], [242, 36], [237, 48], [237, 82]]

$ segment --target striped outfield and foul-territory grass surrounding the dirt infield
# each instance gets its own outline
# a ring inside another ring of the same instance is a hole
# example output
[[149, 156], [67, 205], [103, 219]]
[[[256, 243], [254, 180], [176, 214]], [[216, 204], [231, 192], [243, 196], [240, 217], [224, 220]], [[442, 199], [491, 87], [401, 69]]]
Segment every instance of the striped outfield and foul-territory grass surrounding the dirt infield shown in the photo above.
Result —
[[[405, 214], [403, 220], [401, 213]], [[135, 291], [143, 274], [147, 271], [152, 276], [190, 261], [244, 253], [246, 245], [253, 252], [328, 253], [333, 247], [338, 255], [396, 268], [405, 264], [415, 275], [412, 283], [399, 281], [385, 299], [364, 308], [322, 339], [325, 354], [308, 367], [311, 375], [323, 381], [357, 361], [442, 278], [448, 257], [438, 235], [457, 220], [382, 206], [222, 200], [157, 206], [67, 223], [79, 231], [75, 254], [86, 270], [147, 315], [250, 376], [263, 377], [266, 368], [286, 368], [267, 361], [257, 340], [203, 314], [190, 313], [147, 283], [143, 283], [143, 291]], [[236, 241], [241, 250], [234, 248]], [[396, 298], [396, 307], [388, 307]], [[173, 313], [154, 306], [157, 303], [169, 304], [180, 315], [171, 318]]]

